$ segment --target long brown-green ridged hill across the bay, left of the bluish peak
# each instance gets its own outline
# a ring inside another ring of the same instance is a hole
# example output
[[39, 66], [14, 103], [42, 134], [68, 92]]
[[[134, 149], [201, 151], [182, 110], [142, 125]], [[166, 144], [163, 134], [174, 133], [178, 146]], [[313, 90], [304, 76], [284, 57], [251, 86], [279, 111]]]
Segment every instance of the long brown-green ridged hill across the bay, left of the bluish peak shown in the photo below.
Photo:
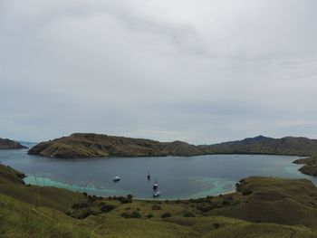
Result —
[[186, 142], [159, 142], [144, 138], [123, 138], [93, 133], [75, 133], [69, 137], [42, 142], [30, 155], [43, 157], [164, 157], [197, 156], [204, 152]]

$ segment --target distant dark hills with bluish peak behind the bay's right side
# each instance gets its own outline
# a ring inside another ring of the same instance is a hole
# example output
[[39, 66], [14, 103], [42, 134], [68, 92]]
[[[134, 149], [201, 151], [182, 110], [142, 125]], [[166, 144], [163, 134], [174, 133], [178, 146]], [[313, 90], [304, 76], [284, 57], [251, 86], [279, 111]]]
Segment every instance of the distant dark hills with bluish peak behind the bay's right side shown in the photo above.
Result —
[[317, 139], [266, 138], [258, 136], [211, 146], [198, 146], [206, 154], [268, 154], [288, 156], [317, 155]]

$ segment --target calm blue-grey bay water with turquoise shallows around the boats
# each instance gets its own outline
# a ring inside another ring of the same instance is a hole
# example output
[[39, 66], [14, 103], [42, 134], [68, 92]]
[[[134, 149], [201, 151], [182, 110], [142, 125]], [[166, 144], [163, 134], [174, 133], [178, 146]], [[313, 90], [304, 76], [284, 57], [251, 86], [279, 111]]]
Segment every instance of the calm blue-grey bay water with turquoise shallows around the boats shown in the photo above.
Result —
[[[24, 172], [25, 183], [58, 186], [94, 195], [127, 195], [150, 198], [155, 179], [162, 199], [219, 195], [235, 189], [247, 176], [305, 176], [292, 162], [297, 157], [212, 155], [199, 157], [108, 157], [59, 159], [34, 157], [26, 149], [0, 150], [2, 164]], [[147, 173], [151, 181], [147, 179]], [[112, 176], [120, 176], [118, 183]]]

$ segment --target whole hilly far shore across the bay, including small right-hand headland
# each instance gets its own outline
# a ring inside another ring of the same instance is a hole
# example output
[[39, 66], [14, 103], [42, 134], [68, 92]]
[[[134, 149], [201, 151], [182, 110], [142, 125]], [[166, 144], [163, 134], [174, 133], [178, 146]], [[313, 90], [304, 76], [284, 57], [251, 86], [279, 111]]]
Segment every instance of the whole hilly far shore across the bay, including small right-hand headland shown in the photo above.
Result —
[[[317, 140], [311, 138], [267, 138], [258, 136], [214, 145], [190, 145], [183, 141], [159, 142], [144, 138], [74, 133], [69, 137], [41, 142], [28, 153], [42, 157], [191, 157], [211, 154], [265, 154], [309, 157], [300, 171], [317, 176]], [[307, 163], [306, 163], [307, 162]]]

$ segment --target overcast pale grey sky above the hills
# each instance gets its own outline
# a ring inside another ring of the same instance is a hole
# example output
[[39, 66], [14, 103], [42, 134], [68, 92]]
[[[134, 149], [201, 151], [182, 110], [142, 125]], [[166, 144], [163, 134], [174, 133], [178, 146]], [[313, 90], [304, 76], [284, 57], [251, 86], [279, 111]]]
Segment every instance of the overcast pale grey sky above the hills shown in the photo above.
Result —
[[315, 0], [1, 0], [0, 138], [317, 138]]

